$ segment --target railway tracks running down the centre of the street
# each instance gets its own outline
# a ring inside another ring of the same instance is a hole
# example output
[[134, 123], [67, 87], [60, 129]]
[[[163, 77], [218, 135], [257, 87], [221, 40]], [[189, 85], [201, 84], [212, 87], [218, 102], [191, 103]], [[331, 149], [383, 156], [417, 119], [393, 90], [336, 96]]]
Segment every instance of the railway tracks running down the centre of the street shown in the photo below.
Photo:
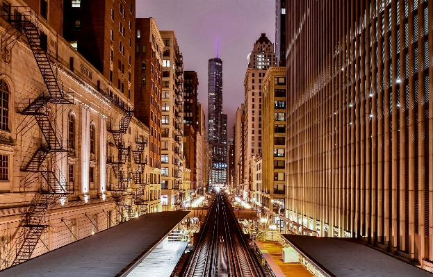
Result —
[[243, 232], [220, 192], [215, 195], [195, 249], [183, 277], [263, 277], [269, 272], [260, 267], [244, 240]]

